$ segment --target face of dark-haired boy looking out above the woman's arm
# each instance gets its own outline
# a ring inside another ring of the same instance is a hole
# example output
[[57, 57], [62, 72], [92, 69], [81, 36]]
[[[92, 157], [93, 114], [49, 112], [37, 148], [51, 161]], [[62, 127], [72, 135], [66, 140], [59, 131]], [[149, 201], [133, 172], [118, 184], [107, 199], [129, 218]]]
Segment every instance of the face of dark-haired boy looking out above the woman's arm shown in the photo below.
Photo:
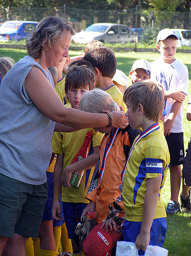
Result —
[[70, 88], [68, 90], [68, 92], [66, 93], [66, 96], [68, 97], [68, 100], [71, 106], [73, 107], [73, 109], [78, 109], [81, 97], [88, 91], [89, 91], [88, 86], [86, 87], [86, 89], [84, 89], [83, 87], [80, 87], [78, 89]]

